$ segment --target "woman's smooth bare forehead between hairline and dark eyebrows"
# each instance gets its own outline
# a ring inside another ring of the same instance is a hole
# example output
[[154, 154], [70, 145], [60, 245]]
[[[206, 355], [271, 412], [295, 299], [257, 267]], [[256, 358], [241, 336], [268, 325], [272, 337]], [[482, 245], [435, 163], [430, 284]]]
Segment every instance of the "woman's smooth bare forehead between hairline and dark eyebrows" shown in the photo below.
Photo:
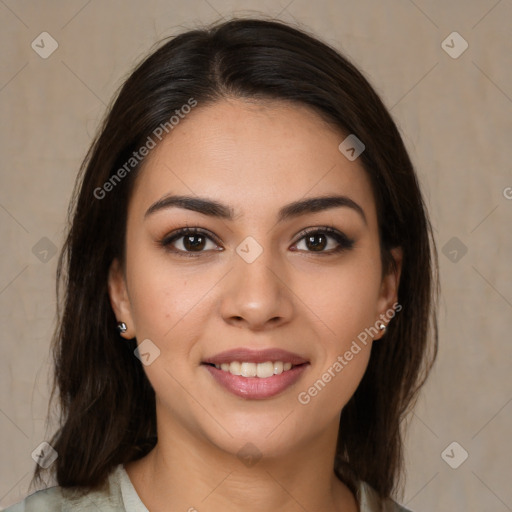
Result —
[[307, 196], [350, 196], [375, 215], [362, 164], [338, 149], [346, 137], [312, 108], [277, 100], [199, 103], [146, 158], [131, 208], [166, 194], [208, 196], [237, 216]]

